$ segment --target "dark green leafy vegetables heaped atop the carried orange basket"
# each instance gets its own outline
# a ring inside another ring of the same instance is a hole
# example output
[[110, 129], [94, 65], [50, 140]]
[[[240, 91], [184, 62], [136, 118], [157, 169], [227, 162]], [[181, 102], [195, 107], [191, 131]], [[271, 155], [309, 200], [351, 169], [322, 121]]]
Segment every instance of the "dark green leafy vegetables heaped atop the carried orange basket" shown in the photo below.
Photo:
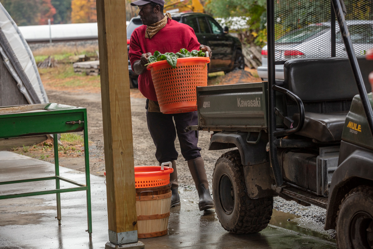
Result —
[[176, 68], [176, 63], [178, 62], [178, 58], [194, 57], [194, 56], [204, 57], [205, 53], [202, 50], [192, 50], [191, 52], [189, 52], [187, 49], [180, 49], [180, 51], [177, 53], [167, 52], [164, 54], [160, 53], [159, 51], [154, 51], [154, 54], [148, 57], [149, 63], [146, 65], [149, 65], [150, 63], [155, 62], [155, 61], [166, 60], [167, 63], [172, 68]]

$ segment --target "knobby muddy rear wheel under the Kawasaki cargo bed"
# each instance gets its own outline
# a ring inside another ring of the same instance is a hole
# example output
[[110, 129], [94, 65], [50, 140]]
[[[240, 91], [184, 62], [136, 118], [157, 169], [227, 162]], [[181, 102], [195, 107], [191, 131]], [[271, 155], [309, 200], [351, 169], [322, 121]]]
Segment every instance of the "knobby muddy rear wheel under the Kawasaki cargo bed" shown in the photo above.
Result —
[[212, 188], [217, 218], [229, 233], [257, 233], [267, 227], [273, 197], [250, 199], [247, 196], [238, 150], [228, 151], [217, 160]]

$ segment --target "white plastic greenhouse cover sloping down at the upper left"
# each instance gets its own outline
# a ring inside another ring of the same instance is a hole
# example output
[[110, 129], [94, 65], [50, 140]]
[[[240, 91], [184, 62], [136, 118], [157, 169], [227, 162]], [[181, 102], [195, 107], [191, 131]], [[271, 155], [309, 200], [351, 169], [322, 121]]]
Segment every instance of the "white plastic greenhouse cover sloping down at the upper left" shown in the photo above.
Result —
[[21, 31], [0, 3], [0, 53], [29, 104], [48, 103], [31, 49]]

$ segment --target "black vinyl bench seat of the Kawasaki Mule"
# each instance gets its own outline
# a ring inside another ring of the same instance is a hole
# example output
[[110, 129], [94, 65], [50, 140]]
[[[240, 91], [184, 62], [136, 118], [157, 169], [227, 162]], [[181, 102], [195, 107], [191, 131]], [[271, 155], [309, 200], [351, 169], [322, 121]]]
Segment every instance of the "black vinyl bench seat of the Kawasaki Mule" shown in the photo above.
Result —
[[[366, 89], [373, 61], [359, 56], [358, 64]], [[303, 128], [296, 134], [320, 142], [340, 141], [352, 98], [358, 94], [347, 57], [292, 59], [284, 64], [283, 86], [301, 98], [305, 109]], [[287, 115], [299, 122], [298, 109], [286, 99]]]

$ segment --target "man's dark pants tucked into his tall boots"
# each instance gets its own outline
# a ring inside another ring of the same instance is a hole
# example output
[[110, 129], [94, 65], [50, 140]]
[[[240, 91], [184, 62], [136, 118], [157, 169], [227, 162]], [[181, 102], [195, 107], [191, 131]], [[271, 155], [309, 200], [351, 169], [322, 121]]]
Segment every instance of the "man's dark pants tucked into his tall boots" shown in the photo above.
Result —
[[[186, 161], [201, 157], [201, 148], [197, 147], [198, 138], [195, 137], [195, 131], [184, 131], [189, 125], [197, 125], [197, 111], [177, 114], [147, 111], [146, 117], [150, 135], [156, 145], [158, 162], [164, 163], [178, 159], [178, 152], [175, 148], [176, 134], [179, 138], [181, 154]], [[175, 124], [172, 119], [175, 120]]]

